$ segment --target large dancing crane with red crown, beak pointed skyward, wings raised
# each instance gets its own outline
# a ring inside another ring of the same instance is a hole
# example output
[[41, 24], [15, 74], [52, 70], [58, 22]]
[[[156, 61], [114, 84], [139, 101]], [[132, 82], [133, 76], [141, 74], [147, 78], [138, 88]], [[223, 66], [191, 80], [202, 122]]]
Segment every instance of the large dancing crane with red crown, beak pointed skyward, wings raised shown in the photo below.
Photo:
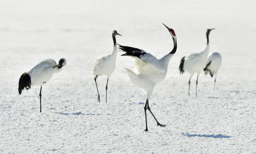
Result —
[[[164, 25], [164, 26], [166, 26], [166, 25]], [[160, 124], [157, 121], [154, 114], [151, 112], [151, 110], [149, 108], [149, 103], [148, 103], [148, 99], [151, 97], [154, 86], [157, 83], [159, 83], [160, 81], [163, 81], [163, 79], [166, 77], [169, 61], [177, 50], [177, 42], [176, 42], [175, 32], [173, 29], [170, 29], [167, 26], [166, 26], [166, 28], [172, 35], [174, 47], [173, 47], [172, 51], [169, 52], [169, 54], [165, 55], [163, 58], [157, 59], [156, 57], [154, 57], [150, 53], [145, 52], [142, 49], [137, 49], [137, 48], [130, 47], [130, 46], [119, 45], [119, 49], [126, 52], [125, 54], [123, 54], [123, 56], [125, 56], [125, 55], [132, 56], [134, 58], [135, 70], [138, 72], [138, 74], [136, 74], [133, 71], [129, 70], [128, 68], [125, 68], [125, 73], [128, 74], [131, 83], [140, 87], [147, 95], [147, 100], [146, 100], [145, 107], [144, 107], [145, 120], [146, 120], [145, 131], [148, 131], [147, 114], [146, 114], [147, 109], [149, 110], [149, 112], [152, 114], [152, 116], [156, 120], [157, 125], [159, 125], [161, 127], [166, 126], [166, 125]]]

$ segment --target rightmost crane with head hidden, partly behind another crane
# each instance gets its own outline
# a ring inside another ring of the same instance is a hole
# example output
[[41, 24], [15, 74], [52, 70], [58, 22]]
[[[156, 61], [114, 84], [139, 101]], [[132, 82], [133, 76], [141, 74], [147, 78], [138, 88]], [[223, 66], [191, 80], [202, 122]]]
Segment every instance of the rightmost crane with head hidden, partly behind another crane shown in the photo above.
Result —
[[221, 67], [221, 60], [222, 60], [221, 55], [218, 52], [210, 53], [207, 57], [207, 65], [204, 68], [205, 74], [209, 73], [212, 77], [215, 74], [214, 88], [213, 88], [214, 90], [215, 90], [217, 73]]

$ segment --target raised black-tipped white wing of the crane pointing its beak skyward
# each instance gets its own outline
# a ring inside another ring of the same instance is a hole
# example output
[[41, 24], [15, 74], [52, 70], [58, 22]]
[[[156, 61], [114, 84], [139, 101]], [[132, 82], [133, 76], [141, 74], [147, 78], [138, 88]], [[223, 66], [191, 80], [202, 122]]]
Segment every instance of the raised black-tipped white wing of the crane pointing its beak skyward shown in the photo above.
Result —
[[164, 73], [166, 70], [166, 66], [161, 61], [142, 49], [122, 45], [119, 45], [119, 49], [126, 52], [125, 54], [122, 54], [122, 56], [134, 57], [136, 63], [135, 65], [139, 72], [147, 70], [157, 71], [157, 73]]

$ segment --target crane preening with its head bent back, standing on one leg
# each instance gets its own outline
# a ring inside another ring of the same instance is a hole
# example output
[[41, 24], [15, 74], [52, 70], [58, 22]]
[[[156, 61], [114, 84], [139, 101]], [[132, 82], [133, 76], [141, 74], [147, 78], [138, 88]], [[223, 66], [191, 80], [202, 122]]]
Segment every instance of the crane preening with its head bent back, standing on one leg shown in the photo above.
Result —
[[53, 76], [54, 73], [59, 73], [62, 67], [67, 64], [66, 59], [61, 58], [58, 65], [53, 59], [46, 59], [39, 62], [32, 67], [28, 72], [23, 73], [19, 79], [18, 91], [21, 95], [22, 90], [26, 88], [29, 90], [31, 87], [41, 86], [40, 88], [40, 112], [41, 112], [41, 91], [42, 86], [46, 84]]

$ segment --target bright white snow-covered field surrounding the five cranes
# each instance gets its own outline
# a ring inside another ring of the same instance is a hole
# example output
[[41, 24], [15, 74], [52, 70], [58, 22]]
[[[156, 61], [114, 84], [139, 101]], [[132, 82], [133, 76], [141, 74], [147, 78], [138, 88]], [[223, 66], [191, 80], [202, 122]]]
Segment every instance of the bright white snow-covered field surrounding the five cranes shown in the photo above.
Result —
[[[255, 0], [1, 0], [0, 1], [0, 154], [256, 154]], [[149, 100], [166, 128], [157, 127], [145, 94], [122, 72], [133, 68], [119, 52], [108, 84], [99, 76], [97, 103], [93, 63], [117, 43], [160, 58], [177, 52], [166, 79]], [[206, 46], [223, 57], [216, 90], [199, 76], [187, 95], [189, 74], [180, 76], [180, 59]], [[42, 88], [18, 95], [22, 73], [46, 58], [67, 59], [61, 73]]]

